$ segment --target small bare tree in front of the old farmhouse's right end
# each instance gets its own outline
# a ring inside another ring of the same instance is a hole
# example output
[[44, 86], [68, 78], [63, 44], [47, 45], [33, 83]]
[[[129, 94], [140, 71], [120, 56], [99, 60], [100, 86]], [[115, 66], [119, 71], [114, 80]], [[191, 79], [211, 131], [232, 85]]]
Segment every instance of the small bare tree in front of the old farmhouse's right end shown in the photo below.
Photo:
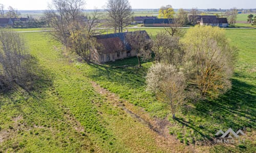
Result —
[[141, 60], [151, 58], [152, 41], [146, 31], [127, 33], [125, 40], [131, 45], [131, 49], [136, 51], [139, 67], [141, 67]]

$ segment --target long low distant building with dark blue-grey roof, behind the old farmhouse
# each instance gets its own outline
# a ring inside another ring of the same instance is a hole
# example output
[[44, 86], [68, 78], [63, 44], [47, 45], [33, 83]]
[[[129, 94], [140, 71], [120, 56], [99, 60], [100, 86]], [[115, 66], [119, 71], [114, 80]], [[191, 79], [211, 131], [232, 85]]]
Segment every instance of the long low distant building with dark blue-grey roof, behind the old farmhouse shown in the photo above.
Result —
[[174, 22], [174, 19], [156, 18], [156, 19], [144, 19], [144, 27], [167, 27]]

